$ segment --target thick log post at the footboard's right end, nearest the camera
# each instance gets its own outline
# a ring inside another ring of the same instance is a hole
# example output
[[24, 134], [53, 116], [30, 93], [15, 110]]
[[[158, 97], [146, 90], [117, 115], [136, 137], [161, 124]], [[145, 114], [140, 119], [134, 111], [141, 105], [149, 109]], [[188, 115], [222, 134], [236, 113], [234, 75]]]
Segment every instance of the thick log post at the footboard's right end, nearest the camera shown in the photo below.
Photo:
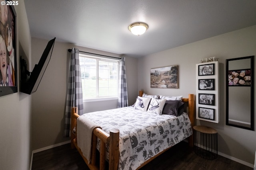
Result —
[[119, 130], [110, 130], [109, 141], [109, 169], [117, 170], [119, 162]]

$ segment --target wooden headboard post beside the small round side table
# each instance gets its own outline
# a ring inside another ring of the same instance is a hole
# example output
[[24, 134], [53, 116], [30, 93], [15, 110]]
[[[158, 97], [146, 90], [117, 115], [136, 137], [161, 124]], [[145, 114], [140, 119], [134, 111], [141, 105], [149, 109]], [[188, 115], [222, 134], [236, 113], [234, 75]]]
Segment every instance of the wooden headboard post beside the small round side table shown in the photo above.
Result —
[[[194, 94], [188, 94], [188, 117], [191, 122], [191, 127], [193, 129], [195, 123], [195, 102], [194, 102]], [[193, 135], [188, 138], [188, 145], [190, 147], [193, 146]]]

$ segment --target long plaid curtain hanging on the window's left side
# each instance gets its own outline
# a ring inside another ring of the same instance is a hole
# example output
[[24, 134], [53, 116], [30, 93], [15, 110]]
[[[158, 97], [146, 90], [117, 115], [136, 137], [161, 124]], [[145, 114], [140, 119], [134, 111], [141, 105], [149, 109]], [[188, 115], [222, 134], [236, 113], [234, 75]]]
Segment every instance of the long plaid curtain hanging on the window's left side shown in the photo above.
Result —
[[79, 50], [75, 48], [72, 48], [70, 56], [64, 137], [70, 136], [70, 113], [72, 107], [78, 107], [79, 115], [84, 113]]

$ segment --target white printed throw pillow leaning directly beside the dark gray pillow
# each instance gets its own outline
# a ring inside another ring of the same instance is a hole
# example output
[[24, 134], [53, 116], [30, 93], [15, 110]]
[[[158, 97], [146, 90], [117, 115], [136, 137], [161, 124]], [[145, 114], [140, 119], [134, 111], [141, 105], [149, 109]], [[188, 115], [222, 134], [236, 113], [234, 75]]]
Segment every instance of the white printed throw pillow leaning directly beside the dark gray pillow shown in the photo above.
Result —
[[164, 104], [166, 99], [154, 99], [152, 98], [150, 104], [148, 106], [148, 112], [156, 113], [158, 115], [162, 115], [162, 111], [164, 108]]

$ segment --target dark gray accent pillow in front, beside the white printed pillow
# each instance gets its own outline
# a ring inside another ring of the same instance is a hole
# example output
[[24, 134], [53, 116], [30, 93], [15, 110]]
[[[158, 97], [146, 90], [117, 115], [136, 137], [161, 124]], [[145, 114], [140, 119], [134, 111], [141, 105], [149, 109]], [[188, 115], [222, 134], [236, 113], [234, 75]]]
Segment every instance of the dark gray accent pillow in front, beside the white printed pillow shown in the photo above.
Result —
[[162, 114], [179, 116], [184, 112], [184, 102], [181, 100], [166, 100]]

